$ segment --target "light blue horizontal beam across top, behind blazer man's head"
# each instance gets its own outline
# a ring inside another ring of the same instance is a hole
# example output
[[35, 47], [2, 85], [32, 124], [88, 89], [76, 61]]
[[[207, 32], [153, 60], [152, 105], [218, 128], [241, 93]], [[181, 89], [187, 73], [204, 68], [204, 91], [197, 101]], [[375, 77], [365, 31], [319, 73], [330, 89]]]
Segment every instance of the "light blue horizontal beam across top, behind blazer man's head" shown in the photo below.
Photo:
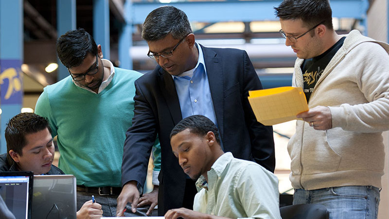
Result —
[[[331, 0], [333, 17], [365, 19], [367, 1]], [[134, 24], [141, 24], [152, 10], [162, 5], [175, 6], [184, 11], [191, 21], [197, 22], [277, 20], [273, 7], [277, 7], [281, 2], [281, 0], [176, 3], [134, 2], [132, 6], [132, 20]]]

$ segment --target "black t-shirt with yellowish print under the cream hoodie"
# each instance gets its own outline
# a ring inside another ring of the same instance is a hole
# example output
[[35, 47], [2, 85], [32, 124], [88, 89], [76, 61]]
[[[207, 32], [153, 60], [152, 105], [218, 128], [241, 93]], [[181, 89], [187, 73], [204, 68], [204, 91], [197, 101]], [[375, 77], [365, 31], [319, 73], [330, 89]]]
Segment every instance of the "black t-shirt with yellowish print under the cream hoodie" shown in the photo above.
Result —
[[340, 38], [330, 49], [323, 54], [313, 58], [304, 59], [301, 65], [302, 78], [304, 79], [304, 93], [307, 98], [307, 102], [311, 97], [311, 93], [314, 91], [315, 85], [318, 82], [321, 73], [330, 63], [332, 57], [342, 47], [343, 41], [346, 37]]

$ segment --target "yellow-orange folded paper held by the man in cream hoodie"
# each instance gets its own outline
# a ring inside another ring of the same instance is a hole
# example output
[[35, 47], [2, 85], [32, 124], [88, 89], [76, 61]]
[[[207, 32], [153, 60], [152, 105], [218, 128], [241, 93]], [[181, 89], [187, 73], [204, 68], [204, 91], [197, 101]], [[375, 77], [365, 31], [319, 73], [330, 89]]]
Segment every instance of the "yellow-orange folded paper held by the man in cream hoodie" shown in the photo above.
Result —
[[297, 114], [309, 110], [304, 92], [295, 87], [248, 91], [248, 101], [258, 122], [265, 126], [297, 119]]

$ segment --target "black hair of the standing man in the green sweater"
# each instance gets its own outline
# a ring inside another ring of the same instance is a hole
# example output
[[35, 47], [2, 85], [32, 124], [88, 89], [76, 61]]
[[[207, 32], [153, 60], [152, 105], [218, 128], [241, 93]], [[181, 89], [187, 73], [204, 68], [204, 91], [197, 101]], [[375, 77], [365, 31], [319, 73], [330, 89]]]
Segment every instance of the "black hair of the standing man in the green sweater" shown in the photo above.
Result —
[[97, 55], [97, 45], [88, 32], [79, 28], [57, 39], [57, 54], [62, 64], [70, 69], [81, 65], [88, 54]]

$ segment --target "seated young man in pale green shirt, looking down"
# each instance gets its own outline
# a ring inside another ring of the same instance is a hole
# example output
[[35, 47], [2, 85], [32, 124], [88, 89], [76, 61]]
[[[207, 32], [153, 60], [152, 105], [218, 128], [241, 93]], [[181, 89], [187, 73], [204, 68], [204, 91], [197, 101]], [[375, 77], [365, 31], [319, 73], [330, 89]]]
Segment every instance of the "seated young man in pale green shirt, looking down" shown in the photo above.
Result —
[[165, 219], [281, 219], [277, 177], [259, 164], [224, 153], [219, 132], [205, 116], [180, 121], [170, 134], [174, 155], [197, 180], [193, 210], [172, 209]]

